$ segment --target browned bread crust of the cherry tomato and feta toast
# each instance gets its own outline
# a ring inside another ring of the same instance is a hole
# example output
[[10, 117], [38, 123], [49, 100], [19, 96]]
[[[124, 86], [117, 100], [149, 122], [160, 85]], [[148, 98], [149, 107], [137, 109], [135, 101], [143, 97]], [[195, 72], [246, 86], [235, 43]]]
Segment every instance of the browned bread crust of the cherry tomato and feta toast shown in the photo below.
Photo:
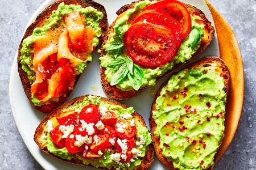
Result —
[[[72, 100], [68, 101], [67, 103], [61, 105], [59, 108], [55, 109], [55, 111], [53, 111], [52, 113], [48, 114], [46, 117], [43, 118], [43, 120], [38, 125], [38, 128], [36, 128], [36, 130], [35, 130], [34, 141], [44, 152], [46, 152], [47, 154], [52, 155], [56, 158], [62, 159], [66, 162], [71, 162], [71, 163], [74, 163], [74, 164], [84, 165], [84, 164], [82, 164], [82, 161], [77, 159], [77, 158], [73, 158], [71, 160], [65, 160], [65, 159], [60, 158], [59, 156], [56, 156], [56, 155], [52, 154], [51, 152], [49, 152], [47, 150], [47, 147], [46, 147], [46, 139], [44, 138], [45, 137], [44, 133], [45, 133], [45, 130], [47, 128], [47, 126], [46, 126], [47, 125], [47, 120], [51, 119], [52, 117], [55, 117], [64, 108], [67, 108], [70, 105], [81, 102], [84, 99], [84, 97], [86, 97], [86, 96], [89, 96], [89, 95], [76, 97], [75, 99], [72, 99]], [[90, 96], [92, 96], [92, 95], [90, 95]], [[97, 96], [97, 97], [100, 97], [100, 96]], [[128, 108], [125, 104], [118, 103], [117, 101], [114, 101], [112, 99], [107, 99], [105, 97], [100, 97], [100, 100], [103, 101], [104, 103], [108, 103], [108, 104], [111, 104], [111, 105], [120, 105], [123, 108]], [[134, 112], [133, 113], [133, 118], [135, 120], [137, 120], [138, 122], [140, 122], [142, 126], [146, 126], [146, 123], [145, 123], [143, 117], [139, 113]], [[152, 165], [153, 161], [154, 161], [153, 156], [154, 156], [154, 150], [153, 150], [152, 143], [151, 143], [150, 145], [148, 145], [148, 150], [146, 152], [146, 155], [143, 157], [141, 165], [139, 165], [136, 169], [147, 169], [148, 167], [150, 167]], [[88, 166], [92, 166], [92, 165], [88, 165]], [[114, 168], [112, 168], [112, 169], [114, 169]]]

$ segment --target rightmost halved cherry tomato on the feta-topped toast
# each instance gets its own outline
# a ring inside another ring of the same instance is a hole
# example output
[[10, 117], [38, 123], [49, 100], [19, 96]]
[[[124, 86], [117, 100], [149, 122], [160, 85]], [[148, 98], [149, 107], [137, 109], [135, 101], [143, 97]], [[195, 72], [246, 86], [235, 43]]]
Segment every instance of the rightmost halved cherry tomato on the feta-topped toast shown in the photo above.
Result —
[[[118, 124], [124, 126], [123, 132], [118, 131]], [[131, 139], [136, 134], [137, 128], [136, 126], [131, 126], [130, 121], [120, 119], [115, 124], [115, 130], [117, 131], [117, 136], [121, 139]]]

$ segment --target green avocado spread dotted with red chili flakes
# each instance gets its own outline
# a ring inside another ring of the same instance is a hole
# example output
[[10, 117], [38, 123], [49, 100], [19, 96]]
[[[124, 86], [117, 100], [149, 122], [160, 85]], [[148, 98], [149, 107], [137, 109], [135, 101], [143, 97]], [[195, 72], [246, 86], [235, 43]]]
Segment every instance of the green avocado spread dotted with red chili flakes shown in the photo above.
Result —
[[208, 169], [224, 137], [224, 78], [207, 69], [171, 76], [156, 99], [154, 134], [178, 169]]

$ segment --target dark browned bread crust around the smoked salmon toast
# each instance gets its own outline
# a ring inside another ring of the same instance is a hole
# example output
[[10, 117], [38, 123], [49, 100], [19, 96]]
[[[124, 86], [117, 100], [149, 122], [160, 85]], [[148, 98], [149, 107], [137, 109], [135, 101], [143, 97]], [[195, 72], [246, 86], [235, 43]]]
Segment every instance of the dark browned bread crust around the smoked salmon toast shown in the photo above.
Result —
[[[56, 2], [52, 3], [50, 6], [45, 8], [42, 12], [40, 12], [40, 14], [36, 17], [35, 22], [32, 23], [27, 28], [27, 30], [24, 33], [24, 36], [23, 36], [23, 38], [22, 38], [22, 40], [20, 41], [20, 44], [19, 44], [19, 52], [18, 52], [18, 58], [17, 58], [17, 60], [18, 60], [18, 72], [19, 72], [20, 80], [22, 82], [22, 86], [24, 88], [24, 92], [27, 95], [28, 100], [30, 100], [30, 103], [32, 104], [32, 106], [35, 109], [37, 109], [40, 112], [44, 112], [44, 113], [49, 113], [53, 109], [58, 107], [60, 104], [63, 104], [64, 101], [68, 98], [68, 96], [71, 94], [72, 91], [68, 91], [63, 96], [59, 97], [59, 101], [50, 101], [49, 104], [42, 105], [41, 107], [38, 107], [34, 103], [32, 103], [31, 84], [28, 81], [27, 73], [22, 69], [22, 64], [20, 63], [20, 50], [22, 49], [23, 40], [26, 39], [28, 36], [31, 36], [32, 32], [34, 31], [34, 29], [36, 27], [41, 27], [44, 24], [44, 21], [52, 14], [51, 12], [53, 10], [57, 10], [57, 7], [62, 2], [64, 2], [65, 5], [75, 4], [75, 5], [80, 5], [81, 7], [92, 6], [92, 7], [96, 8], [98, 11], [101, 11], [104, 14], [104, 17], [103, 17], [103, 19], [101, 20], [101, 23], [100, 23], [102, 35], [99, 39], [99, 42], [100, 42], [99, 46], [102, 43], [103, 37], [105, 36], [105, 33], [106, 33], [106, 30], [108, 29], [108, 19], [107, 19], [106, 10], [105, 10], [104, 6], [100, 5], [97, 2], [89, 1], [89, 0], [57, 0]], [[76, 85], [77, 80], [79, 79], [79, 77], [80, 77], [80, 75], [76, 76], [75, 85]]]

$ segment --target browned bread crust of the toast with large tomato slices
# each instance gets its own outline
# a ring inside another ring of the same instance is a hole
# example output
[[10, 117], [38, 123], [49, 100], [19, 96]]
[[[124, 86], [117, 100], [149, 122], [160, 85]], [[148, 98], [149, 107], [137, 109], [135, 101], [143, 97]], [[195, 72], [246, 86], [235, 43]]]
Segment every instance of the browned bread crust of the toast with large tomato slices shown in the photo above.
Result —
[[[113, 27], [114, 27], [115, 23], [117, 22], [117, 20], [122, 17], [123, 12], [129, 10], [130, 8], [133, 8], [135, 3], [138, 3], [138, 2], [141, 2], [141, 1], [133, 2], [133, 3], [129, 4], [129, 5], [125, 5], [125, 6], [121, 7], [116, 12], [118, 17], [109, 26], [109, 29], [106, 32], [106, 35], [104, 37], [104, 42], [102, 43], [102, 47], [110, 39], [111, 33], [114, 31]], [[215, 31], [214, 31], [214, 28], [213, 28], [212, 24], [206, 18], [204, 12], [202, 12], [201, 10], [199, 10], [198, 8], [196, 8], [196, 7], [192, 6], [192, 5], [185, 4], [185, 3], [184, 3], [184, 5], [188, 8], [190, 14], [193, 17], [195, 17], [195, 19], [196, 19], [195, 22], [196, 23], [204, 24], [205, 25], [205, 27], [203, 28], [204, 37], [201, 40], [200, 48], [197, 50], [197, 52], [195, 54], [192, 55], [191, 59], [189, 59], [185, 63], [176, 64], [171, 70], [168, 70], [162, 76], [159, 76], [158, 78], [156, 78], [156, 82], [158, 82], [159, 80], [163, 79], [166, 76], [171, 75], [177, 69], [179, 69], [180, 67], [184, 66], [186, 63], [192, 61], [196, 57], [199, 57], [200, 54], [202, 54], [204, 52], [204, 50], [207, 48], [207, 46], [210, 44], [210, 42], [213, 39]], [[107, 52], [104, 50], [104, 48], [101, 48], [101, 51], [102, 51], [101, 57], [103, 57], [104, 54], [106, 54]], [[105, 76], [105, 70], [106, 70], [105, 67], [100, 67], [101, 84], [102, 84], [102, 87], [103, 87], [104, 91], [106, 92], [106, 94], [111, 94], [112, 95], [111, 96], [112, 99], [115, 99], [115, 100], [130, 99], [131, 97], [140, 94], [144, 89], [147, 88], [147, 86], [146, 86], [146, 87], [140, 88], [138, 91], [136, 91], [136, 90], [122, 91], [119, 88], [117, 88], [116, 86], [110, 86], [110, 83], [108, 82], [108, 80], [106, 79], [106, 76]]]

